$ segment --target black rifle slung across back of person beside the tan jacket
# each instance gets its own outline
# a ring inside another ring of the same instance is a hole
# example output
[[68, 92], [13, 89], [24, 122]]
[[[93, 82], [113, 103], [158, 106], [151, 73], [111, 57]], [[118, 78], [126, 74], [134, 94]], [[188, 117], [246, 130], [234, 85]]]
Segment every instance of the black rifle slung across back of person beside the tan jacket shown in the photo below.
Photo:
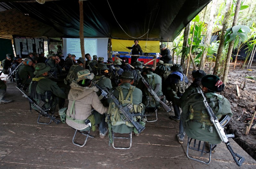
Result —
[[94, 84], [94, 85], [97, 88], [99, 88], [101, 90], [101, 92], [105, 91], [107, 93], [106, 98], [112, 99], [112, 101], [115, 103], [115, 105], [117, 106], [119, 111], [124, 115], [125, 119], [122, 116], [120, 116], [120, 117], [123, 118], [124, 121], [131, 122], [139, 134], [145, 129], [145, 127], [143, 127], [140, 123], [135, 122], [133, 120], [134, 116], [141, 116], [141, 114], [140, 113], [130, 113], [130, 110], [133, 108], [132, 104], [128, 104], [125, 107], [123, 107], [122, 104], [117, 100], [117, 98], [112, 93], [110, 93], [108, 91], [108, 89], [103, 89], [97, 84]]

